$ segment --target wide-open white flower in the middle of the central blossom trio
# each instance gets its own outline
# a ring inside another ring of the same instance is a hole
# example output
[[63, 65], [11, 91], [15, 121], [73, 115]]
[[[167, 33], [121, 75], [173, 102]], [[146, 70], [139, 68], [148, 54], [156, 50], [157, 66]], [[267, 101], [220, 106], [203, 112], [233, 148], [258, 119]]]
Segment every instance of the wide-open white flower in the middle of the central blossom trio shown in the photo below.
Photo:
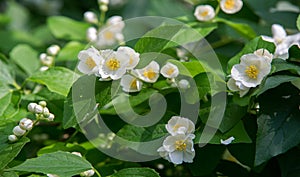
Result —
[[102, 78], [120, 79], [126, 73], [129, 56], [124, 52], [105, 50], [101, 52], [103, 61], [99, 74]]

